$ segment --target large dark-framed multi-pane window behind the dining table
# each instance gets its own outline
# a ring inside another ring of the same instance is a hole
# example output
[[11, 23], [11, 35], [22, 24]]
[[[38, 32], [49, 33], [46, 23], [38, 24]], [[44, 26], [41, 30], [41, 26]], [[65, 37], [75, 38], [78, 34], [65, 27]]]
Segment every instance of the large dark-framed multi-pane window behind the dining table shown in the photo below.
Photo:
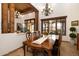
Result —
[[46, 31], [48, 33], [53, 32], [54, 34], [62, 33], [62, 35], [66, 35], [66, 17], [67, 16], [42, 19], [41, 32]]

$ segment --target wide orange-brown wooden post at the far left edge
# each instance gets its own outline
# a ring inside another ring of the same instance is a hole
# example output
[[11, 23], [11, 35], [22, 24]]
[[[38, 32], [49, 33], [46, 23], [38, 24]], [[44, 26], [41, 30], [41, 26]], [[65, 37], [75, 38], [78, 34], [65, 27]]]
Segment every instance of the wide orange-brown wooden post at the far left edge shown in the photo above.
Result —
[[8, 4], [2, 3], [2, 33], [8, 33]]

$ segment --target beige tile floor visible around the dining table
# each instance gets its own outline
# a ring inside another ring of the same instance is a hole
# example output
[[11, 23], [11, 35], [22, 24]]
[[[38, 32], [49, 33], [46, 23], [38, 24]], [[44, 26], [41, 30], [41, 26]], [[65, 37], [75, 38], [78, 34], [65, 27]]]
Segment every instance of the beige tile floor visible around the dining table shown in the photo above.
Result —
[[[23, 49], [18, 49], [7, 56], [23, 56]], [[62, 42], [60, 48], [60, 56], [78, 56], [79, 51], [76, 46], [72, 45], [70, 42]], [[32, 56], [31, 52], [26, 52], [26, 56]]]

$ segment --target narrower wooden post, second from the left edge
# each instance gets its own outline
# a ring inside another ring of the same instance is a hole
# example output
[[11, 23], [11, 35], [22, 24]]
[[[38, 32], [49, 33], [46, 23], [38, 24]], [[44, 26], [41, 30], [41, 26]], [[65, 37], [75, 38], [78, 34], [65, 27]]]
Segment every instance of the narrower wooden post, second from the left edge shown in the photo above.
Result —
[[14, 32], [14, 12], [15, 12], [15, 4], [10, 3], [9, 5], [9, 10], [10, 10], [10, 33]]

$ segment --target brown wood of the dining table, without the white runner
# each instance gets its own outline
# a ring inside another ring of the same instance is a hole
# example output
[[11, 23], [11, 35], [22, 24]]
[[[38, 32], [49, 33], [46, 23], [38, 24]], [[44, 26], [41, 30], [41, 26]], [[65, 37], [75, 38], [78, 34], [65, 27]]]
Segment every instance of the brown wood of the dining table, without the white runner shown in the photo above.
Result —
[[31, 47], [31, 48], [34, 48], [34, 49], [42, 49], [42, 50], [46, 50], [47, 53], [48, 53], [48, 56], [51, 56], [52, 55], [52, 48], [53, 48], [53, 42], [52, 40], [50, 39], [46, 39], [43, 43], [41, 44], [35, 44], [35, 43], [32, 43], [33, 40], [32, 39], [29, 39], [29, 40], [26, 40], [23, 42], [23, 50], [24, 50], [24, 56], [26, 55], [26, 49], [25, 47], [28, 46], [28, 47]]

